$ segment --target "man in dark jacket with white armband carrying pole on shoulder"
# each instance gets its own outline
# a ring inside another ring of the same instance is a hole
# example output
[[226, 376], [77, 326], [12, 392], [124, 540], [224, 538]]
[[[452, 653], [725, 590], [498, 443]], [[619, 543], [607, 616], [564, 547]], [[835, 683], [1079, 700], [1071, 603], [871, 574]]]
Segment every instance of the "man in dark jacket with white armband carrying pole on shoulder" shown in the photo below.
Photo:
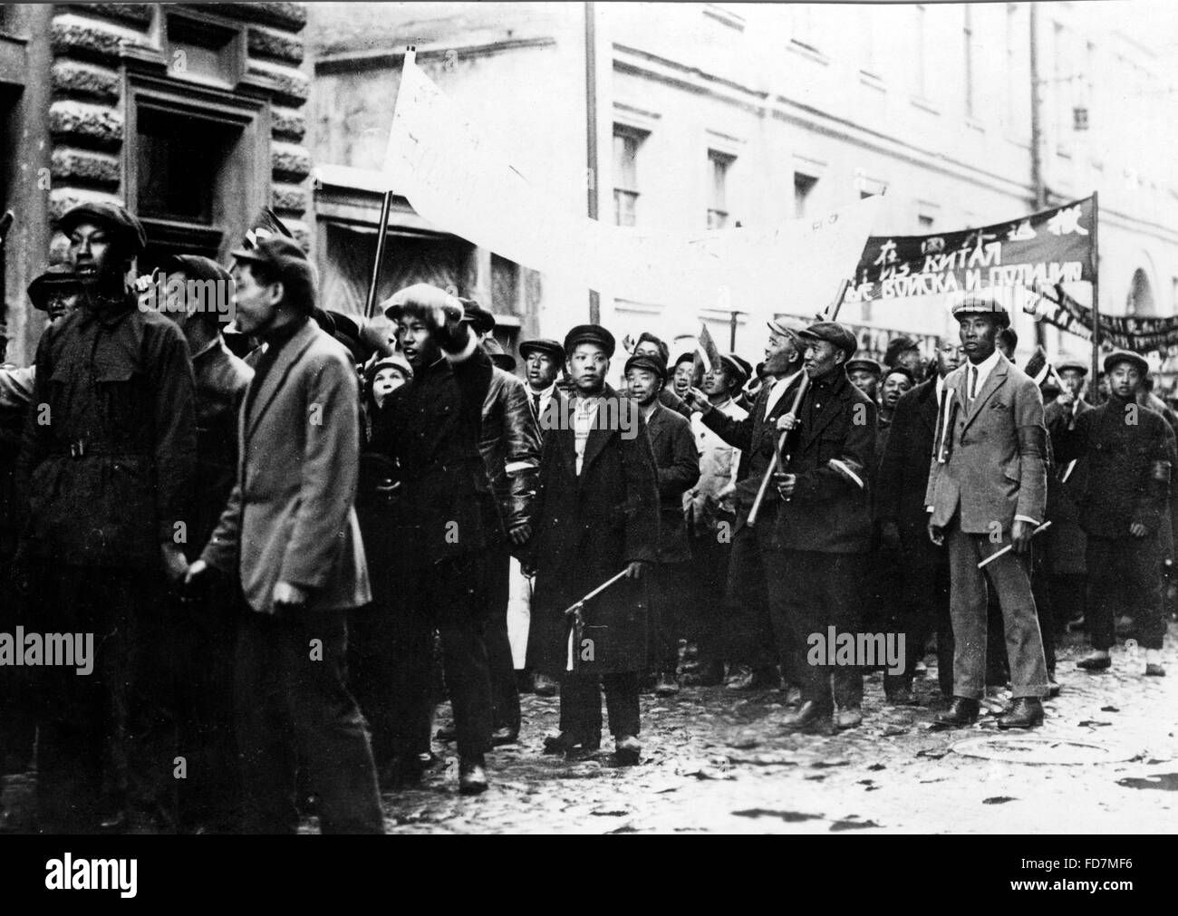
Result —
[[[862, 670], [832, 666], [815, 651], [814, 635], [858, 633], [865, 599], [863, 566], [872, 538], [875, 403], [847, 379], [858, 349], [843, 325], [819, 321], [802, 331], [809, 386], [789, 430], [781, 471], [782, 499], [774, 525], [777, 575], [788, 579], [774, 611], [792, 630], [802, 678], [802, 704], [783, 723], [788, 731], [855, 728], [862, 722]], [[833, 722], [832, 722], [833, 719]]]

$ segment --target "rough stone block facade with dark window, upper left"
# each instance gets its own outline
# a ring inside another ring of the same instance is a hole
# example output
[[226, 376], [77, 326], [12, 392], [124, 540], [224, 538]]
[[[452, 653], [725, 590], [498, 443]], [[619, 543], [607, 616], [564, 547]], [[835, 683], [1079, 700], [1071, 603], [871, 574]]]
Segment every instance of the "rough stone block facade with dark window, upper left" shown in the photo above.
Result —
[[87, 199], [138, 213], [150, 248], [221, 261], [272, 206], [309, 244], [303, 4], [18, 4], [0, 7], [0, 206], [7, 357], [44, 328], [25, 290]]

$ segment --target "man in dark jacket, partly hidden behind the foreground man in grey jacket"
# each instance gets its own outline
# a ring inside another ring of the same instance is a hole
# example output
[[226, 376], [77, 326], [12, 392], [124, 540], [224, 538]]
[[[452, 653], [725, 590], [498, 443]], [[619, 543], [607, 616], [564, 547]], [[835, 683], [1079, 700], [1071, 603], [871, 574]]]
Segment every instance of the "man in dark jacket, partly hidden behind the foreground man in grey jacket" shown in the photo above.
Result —
[[[237, 418], [253, 370], [229, 352], [220, 328], [230, 320], [233, 280], [209, 258], [165, 260], [165, 313], [184, 332], [197, 383], [197, 499], [184, 556], [200, 556], [237, 480]], [[176, 298], [173, 300], [172, 294]], [[227, 832], [238, 825], [240, 790], [233, 741], [233, 650], [243, 598], [223, 577], [204, 593], [176, 602], [177, 716], [180, 754], [180, 825], [191, 832]]]

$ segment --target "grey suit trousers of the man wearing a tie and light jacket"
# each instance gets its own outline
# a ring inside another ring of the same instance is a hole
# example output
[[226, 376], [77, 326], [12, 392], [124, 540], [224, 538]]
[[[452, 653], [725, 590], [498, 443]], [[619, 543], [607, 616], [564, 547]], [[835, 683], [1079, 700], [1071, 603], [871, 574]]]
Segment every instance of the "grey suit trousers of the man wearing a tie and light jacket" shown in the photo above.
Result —
[[955, 519], [946, 532], [955, 643], [954, 696], [981, 699], [986, 693], [987, 582], [1001, 608], [1011, 695], [1039, 698], [1047, 692], [1047, 663], [1031, 592], [1030, 556], [1010, 551], [978, 569], [978, 563], [1010, 543], [1008, 532], [999, 544], [992, 543], [987, 535], [967, 535]]

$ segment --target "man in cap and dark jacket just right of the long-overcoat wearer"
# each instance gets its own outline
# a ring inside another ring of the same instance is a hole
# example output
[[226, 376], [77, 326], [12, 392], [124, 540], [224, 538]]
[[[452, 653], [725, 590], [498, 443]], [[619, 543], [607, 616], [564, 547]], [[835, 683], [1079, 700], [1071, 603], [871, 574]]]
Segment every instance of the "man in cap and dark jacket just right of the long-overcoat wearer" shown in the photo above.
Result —
[[626, 361], [630, 397], [647, 423], [659, 485], [659, 562], [650, 570], [651, 670], [657, 676], [655, 692], [679, 692], [679, 642], [693, 630], [691, 547], [687, 539], [683, 493], [700, 479], [700, 454], [691, 424], [659, 401], [667, 367], [659, 357], [633, 356]]

